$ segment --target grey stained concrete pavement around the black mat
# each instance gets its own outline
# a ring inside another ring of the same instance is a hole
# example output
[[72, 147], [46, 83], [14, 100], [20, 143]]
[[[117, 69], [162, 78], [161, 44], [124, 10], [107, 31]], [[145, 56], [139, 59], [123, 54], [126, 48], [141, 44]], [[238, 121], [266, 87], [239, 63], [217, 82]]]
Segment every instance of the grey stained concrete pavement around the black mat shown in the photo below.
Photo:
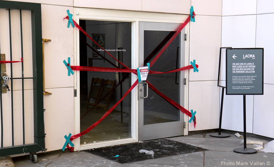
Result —
[[[183, 155], [175, 155], [165, 158], [151, 159], [140, 162], [132, 162], [127, 164], [119, 164], [96, 155], [92, 155], [83, 151], [66, 152], [62, 154], [39, 156], [36, 164], [31, 163], [30, 159], [16, 158], [14, 163], [16, 167], [228, 167], [228, 166], [273, 166], [274, 154], [258, 151], [256, 154], [246, 155], [233, 152], [234, 148], [243, 147], [239, 144], [242, 139], [239, 139], [231, 134], [229, 138], [210, 137], [209, 133], [195, 134], [191, 136], [172, 137], [170, 140], [191, 144], [197, 147], [209, 149], [209, 151], [201, 151], [188, 153]], [[263, 141], [255, 137], [248, 139]], [[253, 144], [248, 144], [248, 147], [254, 148]], [[137, 152], [136, 154], [141, 154]], [[47, 159], [47, 161], [43, 161]], [[230, 162], [232, 163], [230, 165]], [[234, 163], [234, 165], [233, 165]], [[240, 165], [237, 165], [240, 163]], [[251, 165], [252, 163], [252, 165]], [[256, 163], [256, 165], [254, 165]], [[258, 163], [258, 165], [257, 165]], [[260, 165], [264, 163], [264, 165]], [[269, 164], [270, 163], [270, 164]], [[268, 165], [269, 164], [269, 165]]]

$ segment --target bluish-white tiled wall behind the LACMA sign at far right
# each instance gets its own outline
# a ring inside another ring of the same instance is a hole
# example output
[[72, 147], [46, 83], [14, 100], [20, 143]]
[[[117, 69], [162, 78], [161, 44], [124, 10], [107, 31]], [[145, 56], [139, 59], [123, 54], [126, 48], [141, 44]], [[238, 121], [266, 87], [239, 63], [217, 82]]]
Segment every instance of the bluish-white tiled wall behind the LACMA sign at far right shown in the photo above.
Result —
[[[274, 138], [274, 2], [272, 0], [223, 0], [222, 47], [264, 48], [264, 95], [246, 99], [247, 132]], [[222, 129], [243, 132], [243, 96], [225, 95]]]

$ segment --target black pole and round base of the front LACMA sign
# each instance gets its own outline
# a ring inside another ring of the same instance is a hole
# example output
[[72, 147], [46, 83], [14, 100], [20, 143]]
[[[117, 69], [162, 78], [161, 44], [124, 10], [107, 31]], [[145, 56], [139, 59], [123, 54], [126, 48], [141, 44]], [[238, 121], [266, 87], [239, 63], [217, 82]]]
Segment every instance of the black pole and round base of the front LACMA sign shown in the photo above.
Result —
[[257, 150], [254, 148], [247, 148], [246, 147], [246, 107], [245, 107], [245, 94], [244, 94], [244, 148], [235, 148], [233, 150], [236, 153], [240, 154], [255, 154]]

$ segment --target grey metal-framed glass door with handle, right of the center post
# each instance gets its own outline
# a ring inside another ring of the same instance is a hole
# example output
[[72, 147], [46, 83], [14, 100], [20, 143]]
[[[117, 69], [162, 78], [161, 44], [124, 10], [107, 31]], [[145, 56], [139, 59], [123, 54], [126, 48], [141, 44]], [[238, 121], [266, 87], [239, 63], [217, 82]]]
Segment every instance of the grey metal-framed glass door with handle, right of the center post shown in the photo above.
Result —
[[[139, 67], [146, 66], [146, 63], [156, 57], [180, 25], [139, 22]], [[183, 67], [184, 44], [184, 33], [180, 33], [150, 67], [150, 71], [167, 72]], [[162, 94], [184, 107], [184, 71], [149, 74], [147, 81]], [[139, 83], [138, 100], [139, 141], [184, 134], [183, 113], [144, 83]]]

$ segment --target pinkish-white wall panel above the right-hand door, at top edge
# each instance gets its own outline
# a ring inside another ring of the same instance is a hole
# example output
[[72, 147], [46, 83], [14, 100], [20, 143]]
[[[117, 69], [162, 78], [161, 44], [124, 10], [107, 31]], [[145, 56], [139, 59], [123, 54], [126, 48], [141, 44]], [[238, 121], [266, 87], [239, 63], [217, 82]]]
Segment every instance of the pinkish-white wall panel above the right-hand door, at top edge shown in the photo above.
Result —
[[191, 0], [142, 0], [142, 11], [189, 15], [190, 2]]

